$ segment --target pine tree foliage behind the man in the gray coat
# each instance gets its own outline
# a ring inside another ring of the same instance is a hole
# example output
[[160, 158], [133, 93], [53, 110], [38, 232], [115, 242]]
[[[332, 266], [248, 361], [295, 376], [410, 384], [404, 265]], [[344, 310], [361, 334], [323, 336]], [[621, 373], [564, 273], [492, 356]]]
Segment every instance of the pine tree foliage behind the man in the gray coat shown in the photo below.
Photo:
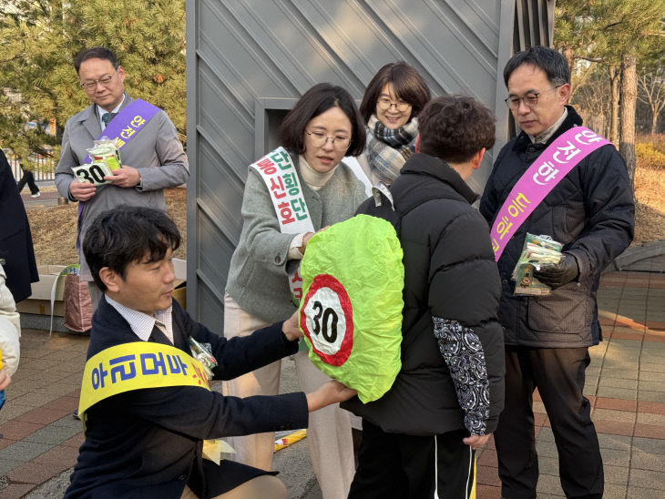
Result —
[[28, 167], [31, 153], [57, 160], [67, 118], [89, 104], [73, 61], [91, 46], [116, 53], [128, 94], [164, 109], [184, 142], [184, 0], [16, 0], [0, 4], [0, 141]]

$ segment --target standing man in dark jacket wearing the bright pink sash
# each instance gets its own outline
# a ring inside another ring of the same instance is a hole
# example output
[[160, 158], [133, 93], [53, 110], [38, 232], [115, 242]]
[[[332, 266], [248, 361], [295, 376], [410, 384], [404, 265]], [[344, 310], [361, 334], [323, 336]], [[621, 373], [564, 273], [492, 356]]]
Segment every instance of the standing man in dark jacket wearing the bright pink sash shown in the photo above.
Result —
[[[493, 245], [503, 286], [499, 321], [506, 341], [506, 406], [494, 433], [501, 492], [507, 499], [536, 497], [537, 389], [557, 443], [564, 493], [599, 498], [603, 464], [583, 391], [588, 347], [602, 339], [596, 302], [600, 273], [633, 238], [628, 173], [617, 149], [581, 127], [581, 117], [566, 105], [570, 73], [561, 54], [544, 46], [518, 52], [506, 64], [504, 79], [506, 104], [522, 132], [501, 149], [480, 202], [480, 212], [494, 224], [492, 235], [498, 231]], [[589, 148], [593, 144], [598, 146]], [[525, 174], [532, 166], [536, 169]], [[529, 205], [531, 195], [519, 187], [532, 181], [532, 188], [548, 186], [544, 198]], [[522, 198], [514, 204], [517, 192]], [[506, 207], [507, 217], [501, 215]], [[530, 208], [517, 225], [522, 210]], [[511, 274], [527, 232], [563, 244], [559, 263], [535, 272], [551, 288], [547, 296], [514, 292]]]

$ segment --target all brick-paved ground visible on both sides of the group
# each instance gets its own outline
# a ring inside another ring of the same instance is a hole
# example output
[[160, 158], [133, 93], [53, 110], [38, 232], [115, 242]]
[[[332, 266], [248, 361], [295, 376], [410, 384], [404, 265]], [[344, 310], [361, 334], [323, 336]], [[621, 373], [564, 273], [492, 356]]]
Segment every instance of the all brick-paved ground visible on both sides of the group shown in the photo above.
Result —
[[[590, 349], [585, 389], [594, 407], [607, 499], [665, 496], [665, 257], [631, 268], [639, 271], [607, 273], [601, 281], [605, 341]], [[87, 337], [24, 330], [21, 347], [21, 364], [0, 411], [0, 499], [23, 497], [71, 468], [83, 440], [71, 412], [77, 407]], [[535, 410], [538, 498], [563, 496], [541, 402]], [[477, 497], [498, 498], [493, 443], [479, 453], [478, 464]]]

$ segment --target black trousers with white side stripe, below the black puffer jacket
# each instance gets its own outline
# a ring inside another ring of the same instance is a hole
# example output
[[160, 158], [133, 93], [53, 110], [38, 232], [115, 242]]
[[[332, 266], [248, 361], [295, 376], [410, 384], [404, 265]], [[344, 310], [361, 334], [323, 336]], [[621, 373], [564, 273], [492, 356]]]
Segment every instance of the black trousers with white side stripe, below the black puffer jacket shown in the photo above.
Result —
[[349, 499], [466, 499], [475, 478], [476, 451], [468, 432], [436, 436], [385, 433], [363, 420], [358, 468]]

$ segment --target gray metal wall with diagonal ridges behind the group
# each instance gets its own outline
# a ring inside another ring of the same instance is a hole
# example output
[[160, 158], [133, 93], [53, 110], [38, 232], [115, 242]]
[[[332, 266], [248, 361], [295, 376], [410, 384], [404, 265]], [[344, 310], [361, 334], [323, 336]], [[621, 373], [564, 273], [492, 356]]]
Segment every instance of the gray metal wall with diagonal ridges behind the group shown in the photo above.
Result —
[[[283, 110], [305, 90], [328, 81], [361, 99], [381, 66], [404, 59], [435, 96], [464, 92], [494, 108], [497, 151], [510, 129], [502, 68], [516, 46], [551, 38], [543, 16], [553, 6], [553, 0], [190, 0], [193, 315], [220, 331], [247, 166], [275, 143]], [[472, 179], [476, 190], [485, 184], [492, 159], [486, 155]]]

